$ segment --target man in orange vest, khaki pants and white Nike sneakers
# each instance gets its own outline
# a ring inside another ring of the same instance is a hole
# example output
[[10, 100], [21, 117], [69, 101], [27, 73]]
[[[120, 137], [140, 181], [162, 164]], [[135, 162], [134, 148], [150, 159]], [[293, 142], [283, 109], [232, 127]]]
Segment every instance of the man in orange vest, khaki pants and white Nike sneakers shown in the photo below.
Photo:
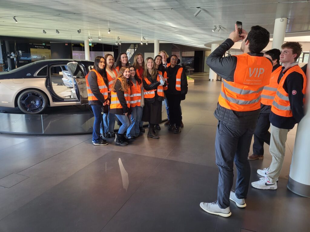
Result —
[[272, 102], [269, 117], [271, 122], [269, 152], [272, 161], [268, 168], [257, 170], [263, 177], [251, 185], [258, 189], [277, 189], [277, 180], [284, 161], [287, 132], [304, 116], [303, 102], [307, 79], [297, 62], [301, 53], [301, 44], [298, 42], [286, 42], [281, 46], [280, 62], [284, 67], [283, 77]]

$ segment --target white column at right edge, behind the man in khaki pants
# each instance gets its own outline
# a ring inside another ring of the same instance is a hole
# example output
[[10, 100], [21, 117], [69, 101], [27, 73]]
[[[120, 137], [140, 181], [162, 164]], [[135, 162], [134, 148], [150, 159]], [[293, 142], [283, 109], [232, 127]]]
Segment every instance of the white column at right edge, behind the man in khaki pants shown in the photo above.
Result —
[[310, 197], [310, 59], [308, 60], [306, 76], [305, 116], [298, 123], [297, 127], [287, 188], [298, 195]]

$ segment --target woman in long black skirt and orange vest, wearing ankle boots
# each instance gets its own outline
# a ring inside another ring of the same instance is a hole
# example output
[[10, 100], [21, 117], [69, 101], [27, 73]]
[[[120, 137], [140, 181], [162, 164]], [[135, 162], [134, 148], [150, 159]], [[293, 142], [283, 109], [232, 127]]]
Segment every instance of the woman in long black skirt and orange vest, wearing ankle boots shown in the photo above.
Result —
[[162, 72], [155, 69], [155, 62], [152, 57], [145, 59], [143, 73], [144, 107], [142, 121], [149, 123], [148, 137], [159, 139], [156, 133], [155, 124], [162, 122], [162, 101], [164, 100], [164, 88], [166, 82], [160, 78]]

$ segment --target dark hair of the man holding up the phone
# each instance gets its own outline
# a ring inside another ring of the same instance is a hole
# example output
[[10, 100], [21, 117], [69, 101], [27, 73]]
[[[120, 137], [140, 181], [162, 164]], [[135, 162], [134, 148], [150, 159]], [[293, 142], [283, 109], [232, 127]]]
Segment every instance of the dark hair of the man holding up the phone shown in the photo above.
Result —
[[250, 41], [249, 50], [253, 53], [260, 53], [269, 43], [270, 34], [261, 26], [251, 27], [247, 40]]

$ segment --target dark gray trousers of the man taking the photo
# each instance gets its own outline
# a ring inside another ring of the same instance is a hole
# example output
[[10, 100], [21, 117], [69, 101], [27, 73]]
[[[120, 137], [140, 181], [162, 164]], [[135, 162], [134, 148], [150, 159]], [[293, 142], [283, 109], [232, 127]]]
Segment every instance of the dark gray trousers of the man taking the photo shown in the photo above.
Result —
[[230, 205], [229, 195], [233, 184], [233, 162], [237, 167], [236, 196], [246, 198], [250, 183], [251, 168], [248, 161], [252, 136], [252, 128], [228, 127], [218, 124], [215, 135], [215, 156], [219, 168], [219, 184], [217, 188], [217, 204], [220, 208]]

